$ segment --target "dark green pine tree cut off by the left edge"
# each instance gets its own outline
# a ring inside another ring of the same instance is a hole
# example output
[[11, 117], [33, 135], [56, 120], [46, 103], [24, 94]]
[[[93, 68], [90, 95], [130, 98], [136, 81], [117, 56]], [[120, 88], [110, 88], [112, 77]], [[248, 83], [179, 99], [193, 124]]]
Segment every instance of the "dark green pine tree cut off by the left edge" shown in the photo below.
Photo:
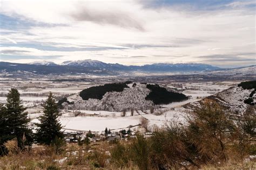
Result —
[[28, 128], [29, 118], [26, 108], [22, 105], [17, 89], [12, 88], [6, 96], [5, 106], [0, 106], [0, 145], [11, 139], [17, 138], [18, 147], [22, 150], [26, 145], [32, 144], [32, 131]]

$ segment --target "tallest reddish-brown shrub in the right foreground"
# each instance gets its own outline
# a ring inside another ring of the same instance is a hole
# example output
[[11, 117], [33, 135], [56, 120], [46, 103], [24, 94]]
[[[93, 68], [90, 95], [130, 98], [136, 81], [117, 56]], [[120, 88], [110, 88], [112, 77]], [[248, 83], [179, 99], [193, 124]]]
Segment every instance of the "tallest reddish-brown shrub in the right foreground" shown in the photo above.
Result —
[[235, 125], [217, 103], [205, 102], [187, 119], [187, 135], [201, 154], [203, 162], [215, 164], [228, 159], [226, 146], [231, 143]]

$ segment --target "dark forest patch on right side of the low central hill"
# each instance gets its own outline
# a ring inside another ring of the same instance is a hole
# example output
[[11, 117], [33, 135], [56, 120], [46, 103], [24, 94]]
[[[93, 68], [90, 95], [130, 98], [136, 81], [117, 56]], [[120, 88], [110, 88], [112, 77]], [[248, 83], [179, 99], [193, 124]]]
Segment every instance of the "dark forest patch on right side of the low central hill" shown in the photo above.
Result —
[[168, 91], [166, 88], [160, 87], [158, 84], [147, 84], [146, 87], [151, 91], [145, 99], [151, 100], [154, 104], [169, 104], [188, 99], [184, 94]]

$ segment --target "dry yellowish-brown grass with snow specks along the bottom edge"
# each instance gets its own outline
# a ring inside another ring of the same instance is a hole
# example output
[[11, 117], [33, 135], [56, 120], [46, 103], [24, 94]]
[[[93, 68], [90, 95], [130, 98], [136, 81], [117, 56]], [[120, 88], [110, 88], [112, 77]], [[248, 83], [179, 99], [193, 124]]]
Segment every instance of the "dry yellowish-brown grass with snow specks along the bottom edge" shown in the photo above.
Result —
[[[130, 145], [131, 141], [122, 141]], [[132, 161], [122, 168], [111, 161], [111, 151], [117, 146], [106, 141], [93, 143], [90, 146], [68, 144], [63, 153], [57, 155], [52, 148], [36, 146], [31, 151], [17, 152], [15, 140], [6, 143], [9, 155], [0, 157], [0, 169], [139, 169]], [[233, 154], [233, 156], [231, 156]], [[256, 160], [251, 159], [241, 166], [235, 153], [230, 153], [230, 160], [224, 165], [206, 165], [201, 169], [256, 169]]]

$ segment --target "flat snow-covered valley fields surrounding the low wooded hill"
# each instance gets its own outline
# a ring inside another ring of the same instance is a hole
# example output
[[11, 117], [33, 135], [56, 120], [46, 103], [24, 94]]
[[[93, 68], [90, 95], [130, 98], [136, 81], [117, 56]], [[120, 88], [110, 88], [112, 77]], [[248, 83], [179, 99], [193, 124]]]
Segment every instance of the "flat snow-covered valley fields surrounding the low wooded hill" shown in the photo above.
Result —
[[[55, 96], [60, 97], [72, 95], [79, 91], [104, 84], [105, 82], [52, 82], [48, 80], [0, 80], [0, 103], [6, 100], [5, 95], [10, 88], [17, 88], [21, 93], [21, 98], [25, 107], [28, 107], [29, 117], [32, 123], [38, 122], [37, 117], [43, 113], [42, 103], [47, 98], [49, 91]], [[175, 102], [161, 105], [161, 108], [154, 110], [134, 110], [126, 111], [125, 116], [122, 112], [114, 111], [91, 111], [91, 110], [60, 110], [62, 116], [59, 118], [63, 129], [66, 131], [103, 131], [105, 128], [112, 130], [137, 128], [141, 119], [147, 120], [149, 127], [154, 125], [161, 126], [173, 118], [181, 122], [185, 121], [186, 109], [181, 107], [189, 102], [201, 100], [203, 97], [213, 95], [219, 91], [234, 86], [239, 82], [200, 82], [200, 83], [166, 83], [170, 88], [177, 88], [183, 94], [190, 96], [190, 99], [183, 102]], [[78, 116], [77, 116], [78, 115]]]

